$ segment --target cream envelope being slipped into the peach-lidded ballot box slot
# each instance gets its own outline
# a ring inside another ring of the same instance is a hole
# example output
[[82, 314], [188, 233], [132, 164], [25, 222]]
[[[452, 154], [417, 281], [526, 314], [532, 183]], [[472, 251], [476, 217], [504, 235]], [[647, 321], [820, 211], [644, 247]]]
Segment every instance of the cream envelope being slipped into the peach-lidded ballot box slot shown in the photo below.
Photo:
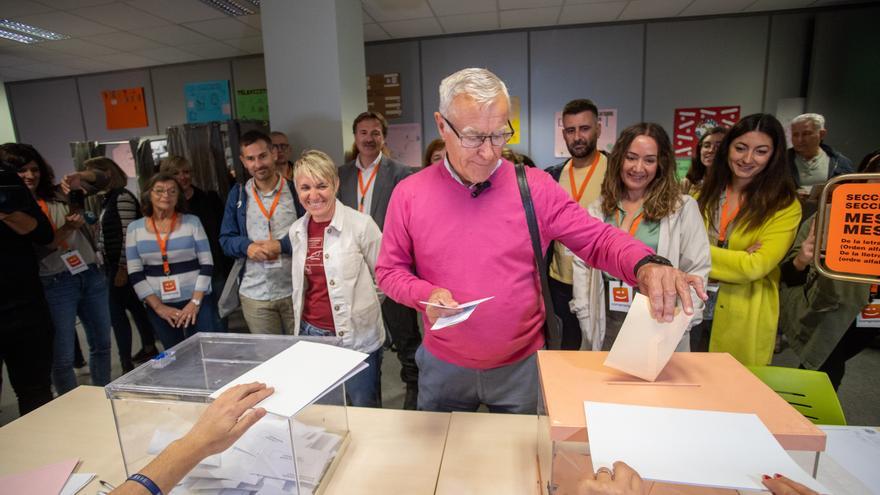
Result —
[[653, 382], [669, 362], [692, 318], [675, 308], [671, 322], [659, 322], [651, 317], [649, 299], [636, 294], [605, 366]]

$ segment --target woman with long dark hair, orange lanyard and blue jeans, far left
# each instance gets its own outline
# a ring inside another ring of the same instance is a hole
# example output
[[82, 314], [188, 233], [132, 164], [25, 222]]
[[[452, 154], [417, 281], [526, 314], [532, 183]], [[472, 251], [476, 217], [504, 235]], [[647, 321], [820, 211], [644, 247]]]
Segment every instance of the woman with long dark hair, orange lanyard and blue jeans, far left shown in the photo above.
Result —
[[83, 178], [81, 174], [73, 174], [65, 177], [62, 185], [55, 186], [52, 168], [33, 146], [7, 143], [0, 146], [0, 152], [24, 181], [54, 231], [51, 242], [36, 250], [40, 258], [40, 281], [55, 328], [52, 357], [55, 391], [61, 395], [77, 386], [73, 372], [77, 317], [82, 321], [89, 344], [92, 384], [106, 385], [110, 382], [107, 282], [98, 268], [97, 249], [83, 214]]

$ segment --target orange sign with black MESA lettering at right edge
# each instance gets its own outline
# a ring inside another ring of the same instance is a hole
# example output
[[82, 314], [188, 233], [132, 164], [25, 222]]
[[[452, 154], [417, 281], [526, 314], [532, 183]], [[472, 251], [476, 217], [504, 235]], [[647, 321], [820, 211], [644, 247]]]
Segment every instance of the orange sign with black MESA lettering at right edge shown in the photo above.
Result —
[[880, 276], [880, 184], [841, 184], [831, 197], [825, 264]]

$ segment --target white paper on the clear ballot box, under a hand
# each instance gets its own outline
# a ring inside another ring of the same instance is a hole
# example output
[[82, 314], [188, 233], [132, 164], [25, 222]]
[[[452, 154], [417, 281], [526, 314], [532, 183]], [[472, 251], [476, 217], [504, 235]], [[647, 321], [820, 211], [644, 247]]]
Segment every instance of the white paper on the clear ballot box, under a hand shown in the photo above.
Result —
[[368, 365], [363, 361], [367, 356], [333, 345], [299, 341], [227, 383], [211, 398], [216, 399], [226, 389], [241, 383], [263, 382], [275, 387], [275, 393], [258, 405], [270, 413], [290, 417], [366, 368]]

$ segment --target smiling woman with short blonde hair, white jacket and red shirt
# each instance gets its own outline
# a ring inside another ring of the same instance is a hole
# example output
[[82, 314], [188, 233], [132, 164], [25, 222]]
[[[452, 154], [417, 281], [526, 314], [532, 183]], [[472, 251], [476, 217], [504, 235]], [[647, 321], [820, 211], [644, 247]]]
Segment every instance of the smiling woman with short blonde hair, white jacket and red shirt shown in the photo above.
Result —
[[382, 233], [369, 215], [336, 199], [336, 165], [304, 151], [293, 181], [306, 214], [290, 226], [293, 309], [298, 335], [332, 336], [366, 352], [369, 367], [346, 382], [353, 406], [380, 407], [379, 370], [385, 326], [375, 283]]

